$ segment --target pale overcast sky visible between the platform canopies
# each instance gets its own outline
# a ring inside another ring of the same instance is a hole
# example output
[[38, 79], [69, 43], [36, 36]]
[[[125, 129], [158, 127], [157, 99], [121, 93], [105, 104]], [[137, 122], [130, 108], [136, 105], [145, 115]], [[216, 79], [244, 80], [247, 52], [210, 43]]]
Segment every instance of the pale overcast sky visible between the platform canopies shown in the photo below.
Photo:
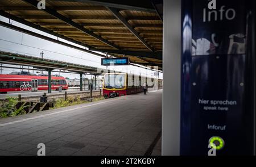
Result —
[[[0, 20], [3, 22], [9, 23], [9, 19], [4, 18], [2, 16], [0, 16]], [[25, 26], [18, 22], [14, 22], [13, 20], [10, 20], [10, 22], [14, 26], [25, 28], [27, 30], [37, 32], [41, 35], [45, 35], [48, 37], [52, 37], [53, 39], [57, 39], [57, 37], [55, 36], [46, 34], [42, 31]], [[30, 55], [30, 56], [38, 56], [38, 57], [41, 57], [40, 53], [43, 51], [45, 59], [61, 60], [61, 61], [75, 63], [75, 64], [82, 64], [82, 65], [88, 65], [88, 66], [94, 66], [97, 68], [106, 69], [106, 66], [101, 66], [102, 57], [100, 56], [95, 56], [90, 53], [79, 51], [77, 49], [65, 47], [63, 45], [52, 43], [51, 41], [43, 40], [31, 35], [23, 34], [21, 32], [14, 31], [2, 26], [0, 26], [0, 34], [1, 34], [0, 35], [0, 51], [7, 51], [7, 52], [19, 53], [19, 54]], [[68, 42], [60, 38], [59, 40], [65, 41], [66, 43], [69, 43], [69, 44], [73, 44], [71, 42]], [[73, 44], [73, 45], [76, 45], [76, 44]], [[76, 46], [79, 46], [79, 45], [76, 45]], [[11, 65], [4, 64], [3, 66], [11, 66]], [[24, 68], [27, 68], [27, 66]], [[151, 74], [152, 73], [150, 70], [144, 70], [143, 68], [139, 68], [137, 66], [131, 66], [131, 65], [115, 66], [114, 68], [122, 72], [128, 72], [128, 73], [134, 72], [135, 74], [140, 74], [140, 73]], [[108, 69], [113, 70], [111, 66], [109, 66]], [[20, 71], [20, 69], [3, 68], [2, 73], [8, 74], [14, 71]], [[30, 72], [32, 72], [32, 70]], [[68, 78], [79, 78], [79, 74], [70, 74], [70, 73], [60, 73], [60, 74], [61, 76], [68, 77]], [[162, 78], [162, 73], [159, 74], [159, 78]]]

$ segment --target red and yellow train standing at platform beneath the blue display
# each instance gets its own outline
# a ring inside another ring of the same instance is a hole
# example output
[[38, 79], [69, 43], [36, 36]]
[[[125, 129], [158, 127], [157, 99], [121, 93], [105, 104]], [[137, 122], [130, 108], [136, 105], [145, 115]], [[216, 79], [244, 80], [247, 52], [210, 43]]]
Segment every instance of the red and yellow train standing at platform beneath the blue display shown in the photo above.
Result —
[[[143, 92], [143, 84], [147, 78], [142, 80], [141, 76], [129, 78], [127, 73], [106, 73], [103, 82], [103, 95], [105, 98], [119, 97], [122, 95], [135, 94]], [[136, 80], [137, 78], [137, 80]], [[151, 78], [153, 80], [153, 78]], [[128, 83], [130, 82], [130, 83]], [[138, 82], [138, 83], [135, 83]], [[154, 83], [153, 83], [154, 84]], [[135, 86], [137, 85], [137, 86]], [[158, 79], [158, 88], [162, 87], [163, 80]], [[148, 85], [153, 87], [154, 85]]]

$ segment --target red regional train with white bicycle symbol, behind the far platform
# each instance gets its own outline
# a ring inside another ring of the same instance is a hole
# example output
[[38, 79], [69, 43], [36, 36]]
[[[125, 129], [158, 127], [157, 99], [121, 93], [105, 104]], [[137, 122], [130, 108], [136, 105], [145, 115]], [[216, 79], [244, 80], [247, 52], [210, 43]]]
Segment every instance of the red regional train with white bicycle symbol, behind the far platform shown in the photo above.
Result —
[[[52, 76], [52, 90], [68, 89], [64, 77]], [[48, 76], [0, 74], [0, 93], [9, 91], [37, 91], [48, 90]]]

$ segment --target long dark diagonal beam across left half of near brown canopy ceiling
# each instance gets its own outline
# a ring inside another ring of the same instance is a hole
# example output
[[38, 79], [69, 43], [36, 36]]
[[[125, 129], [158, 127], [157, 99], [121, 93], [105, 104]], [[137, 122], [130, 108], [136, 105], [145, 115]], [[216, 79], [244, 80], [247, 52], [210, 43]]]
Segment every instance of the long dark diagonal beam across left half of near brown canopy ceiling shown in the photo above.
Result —
[[[36, 0], [22, 0], [22, 1], [27, 2], [27, 3], [29, 3], [30, 5], [32, 5], [32, 6], [36, 7], [36, 8], [37, 8], [37, 6], [38, 6], [38, 1], [36, 1]], [[113, 48], [119, 49], [119, 47], [118, 47], [117, 45], [115, 45], [115, 44], [113, 44], [113, 43], [110, 43], [110, 41], [108, 41], [108, 40], [102, 38], [101, 36], [98, 36], [97, 34], [94, 34], [92, 31], [90, 31], [90, 30], [84, 28], [83, 26], [80, 26], [80, 24], [75, 23], [75, 22], [73, 22], [71, 19], [68, 19], [68, 18], [66, 18], [65, 16], [59, 14], [56, 10], [50, 9], [50, 8], [48, 8], [47, 6], [46, 6], [46, 9], [42, 9], [42, 10], [45, 11], [46, 13], [48, 13], [48, 14], [54, 16], [55, 18], [60, 19], [60, 20], [62, 20], [63, 22], [65, 22], [65, 23], [67, 23], [67, 24], [69, 24], [69, 25], [71, 25], [71, 26], [73, 26], [73, 27], [76, 27], [77, 30], [80, 30], [80, 31], [82, 31], [82, 32], [85, 32], [85, 34], [88, 34], [88, 35], [90, 35], [90, 36], [93, 36], [94, 38], [96, 38], [96, 39], [102, 41], [103, 43], [105, 43], [105, 44], [107, 44], [107, 45], [110, 45], [110, 46], [113, 47]]]

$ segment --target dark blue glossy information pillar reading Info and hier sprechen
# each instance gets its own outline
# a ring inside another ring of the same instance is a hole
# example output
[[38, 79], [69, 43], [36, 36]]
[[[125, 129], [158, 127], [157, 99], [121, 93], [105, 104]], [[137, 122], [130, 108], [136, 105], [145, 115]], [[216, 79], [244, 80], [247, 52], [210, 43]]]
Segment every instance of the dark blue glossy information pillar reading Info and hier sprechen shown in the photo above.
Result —
[[181, 25], [181, 155], [253, 155], [255, 1], [183, 0]]

